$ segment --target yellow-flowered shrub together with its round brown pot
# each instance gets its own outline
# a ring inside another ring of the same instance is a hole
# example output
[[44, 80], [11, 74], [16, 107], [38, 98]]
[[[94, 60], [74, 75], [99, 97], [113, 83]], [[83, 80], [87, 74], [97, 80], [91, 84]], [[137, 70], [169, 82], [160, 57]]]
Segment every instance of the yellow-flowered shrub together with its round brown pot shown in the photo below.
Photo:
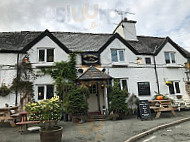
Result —
[[29, 113], [30, 120], [39, 120], [43, 124], [40, 130], [41, 142], [61, 142], [63, 127], [58, 126], [61, 119], [63, 106], [58, 96], [49, 100], [28, 103], [25, 110]]

